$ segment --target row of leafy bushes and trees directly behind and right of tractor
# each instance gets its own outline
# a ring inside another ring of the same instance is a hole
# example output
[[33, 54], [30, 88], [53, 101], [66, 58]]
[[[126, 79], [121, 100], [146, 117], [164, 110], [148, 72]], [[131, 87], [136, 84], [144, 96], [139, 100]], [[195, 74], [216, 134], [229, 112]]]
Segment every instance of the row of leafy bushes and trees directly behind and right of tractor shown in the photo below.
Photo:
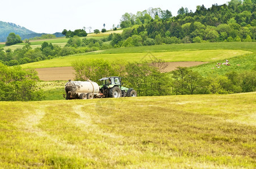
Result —
[[134, 88], [139, 96], [234, 94], [256, 91], [256, 66], [244, 72], [227, 72], [225, 75], [210, 74], [203, 77], [189, 68], [178, 67], [164, 72], [165, 61], [152, 59], [144, 63], [125, 61], [87, 60], [72, 64], [75, 80], [86, 81], [109, 76], [123, 77], [126, 87]]

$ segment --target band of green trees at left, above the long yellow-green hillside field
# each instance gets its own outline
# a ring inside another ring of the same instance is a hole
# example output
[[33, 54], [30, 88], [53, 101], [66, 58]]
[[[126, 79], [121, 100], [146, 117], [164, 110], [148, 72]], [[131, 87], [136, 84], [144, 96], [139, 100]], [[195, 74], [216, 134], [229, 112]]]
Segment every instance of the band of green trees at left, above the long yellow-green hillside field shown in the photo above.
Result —
[[75, 36], [69, 38], [69, 41], [65, 47], [43, 42], [41, 47], [37, 47], [35, 49], [32, 49], [29, 41], [24, 41], [25, 45], [23, 48], [16, 48], [14, 51], [12, 51], [10, 48], [7, 50], [0, 48], [0, 63], [8, 66], [14, 66], [41, 60], [49, 60], [53, 59], [54, 57], [81, 54], [84, 52], [112, 48], [112, 46], [103, 43], [106, 41], [109, 41], [109, 39], [80, 39], [79, 37]]

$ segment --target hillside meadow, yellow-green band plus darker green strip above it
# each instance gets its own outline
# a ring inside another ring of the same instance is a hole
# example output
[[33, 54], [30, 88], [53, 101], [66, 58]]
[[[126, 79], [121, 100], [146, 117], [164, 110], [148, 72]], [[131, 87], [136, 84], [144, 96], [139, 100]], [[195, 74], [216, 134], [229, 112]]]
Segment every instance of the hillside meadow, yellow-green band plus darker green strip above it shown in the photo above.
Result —
[[74, 61], [86, 59], [105, 60], [126, 60], [143, 61], [150, 60], [152, 56], [165, 61], [206, 61], [216, 62], [230, 59], [232, 57], [244, 56], [256, 52], [256, 43], [231, 42], [231, 43], [193, 43], [178, 45], [159, 45], [114, 48], [77, 54], [71, 56], [58, 57], [52, 60], [44, 60], [37, 63], [22, 65], [23, 68], [49, 68], [58, 66], [71, 66]]

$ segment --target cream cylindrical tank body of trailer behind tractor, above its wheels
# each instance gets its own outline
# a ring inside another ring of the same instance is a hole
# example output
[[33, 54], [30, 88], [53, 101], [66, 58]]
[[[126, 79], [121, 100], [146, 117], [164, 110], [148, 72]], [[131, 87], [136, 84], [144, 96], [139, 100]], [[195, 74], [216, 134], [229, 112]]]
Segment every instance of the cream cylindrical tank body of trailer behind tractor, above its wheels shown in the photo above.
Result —
[[96, 82], [92, 81], [69, 81], [65, 85], [66, 92], [71, 92], [71, 95], [75, 94], [99, 94], [100, 88]]

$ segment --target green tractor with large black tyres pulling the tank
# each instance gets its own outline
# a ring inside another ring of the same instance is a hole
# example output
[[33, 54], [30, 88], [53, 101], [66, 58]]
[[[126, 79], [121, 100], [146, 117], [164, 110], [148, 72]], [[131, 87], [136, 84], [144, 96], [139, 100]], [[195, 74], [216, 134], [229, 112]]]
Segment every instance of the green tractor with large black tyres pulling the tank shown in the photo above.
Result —
[[120, 77], [104, 77], [101, 81], [100, 95], [102, 97], [136, 97], [137, 92], [133, 88], [122, 86]]

